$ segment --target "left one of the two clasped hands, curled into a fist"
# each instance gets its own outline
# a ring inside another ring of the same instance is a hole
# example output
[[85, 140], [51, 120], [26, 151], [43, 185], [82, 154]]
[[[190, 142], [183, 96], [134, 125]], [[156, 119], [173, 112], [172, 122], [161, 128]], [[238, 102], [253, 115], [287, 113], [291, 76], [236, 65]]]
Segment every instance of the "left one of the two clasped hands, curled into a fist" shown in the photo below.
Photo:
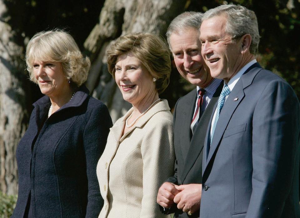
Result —
[[165, 208], [170, 208], [174, 204], [174, 197], [179, 193], [177, 185], [165, 182], [160, 186], [157, 194], [157, 203]]

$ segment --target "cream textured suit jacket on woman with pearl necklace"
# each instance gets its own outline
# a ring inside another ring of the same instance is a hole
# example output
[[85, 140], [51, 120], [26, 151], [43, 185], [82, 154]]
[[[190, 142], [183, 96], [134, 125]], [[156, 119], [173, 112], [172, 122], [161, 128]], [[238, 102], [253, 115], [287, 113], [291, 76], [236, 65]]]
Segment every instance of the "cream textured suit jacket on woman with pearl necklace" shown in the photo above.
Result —
[[173, 175], [173, 116], [167, 100], [145, 113], [121, 136], [131, 108], [110, 129], [97, 166], [104, 206], [99, 217], [165, 217], [156, 196], [159, 186]]

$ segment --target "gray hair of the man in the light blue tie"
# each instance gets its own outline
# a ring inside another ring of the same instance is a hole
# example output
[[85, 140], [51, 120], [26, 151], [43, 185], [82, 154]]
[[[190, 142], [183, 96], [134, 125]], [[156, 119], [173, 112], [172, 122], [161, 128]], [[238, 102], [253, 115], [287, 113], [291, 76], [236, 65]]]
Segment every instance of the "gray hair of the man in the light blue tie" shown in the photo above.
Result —
[[220, 5], [205, 12], [202, 21], [220, 15], [225, 15], [227, 17], [226, 31], [232, 36], [233, 41], [245, 34], [251, 35], [252, 42], [249, 50], [250, 53], [256, 54], [260, 36], [258, 32], [257, 17], [254, 11], [241, 5]]

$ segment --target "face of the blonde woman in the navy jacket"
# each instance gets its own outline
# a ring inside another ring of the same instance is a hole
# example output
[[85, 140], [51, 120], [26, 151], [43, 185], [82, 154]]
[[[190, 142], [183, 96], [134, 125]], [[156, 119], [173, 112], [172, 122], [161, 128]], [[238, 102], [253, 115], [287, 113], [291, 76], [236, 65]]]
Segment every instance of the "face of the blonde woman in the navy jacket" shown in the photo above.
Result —
[[43, 94], [49, 97], [59, 96], [66, 87], [69, 87], [60, 62], [33, 61], [34, 77]]

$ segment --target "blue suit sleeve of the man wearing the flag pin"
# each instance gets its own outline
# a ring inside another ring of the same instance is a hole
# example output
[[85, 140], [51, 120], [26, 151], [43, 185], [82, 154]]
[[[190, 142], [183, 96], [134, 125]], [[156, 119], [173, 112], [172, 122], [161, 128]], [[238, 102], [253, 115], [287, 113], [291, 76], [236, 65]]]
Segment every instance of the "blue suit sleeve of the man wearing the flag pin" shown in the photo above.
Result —
[[283, 207], [298, 181], [299, 123], [292, 88], [281, 80], [269, 82], [253, 113], [252, 194], [246, 217], [285, 217]]

